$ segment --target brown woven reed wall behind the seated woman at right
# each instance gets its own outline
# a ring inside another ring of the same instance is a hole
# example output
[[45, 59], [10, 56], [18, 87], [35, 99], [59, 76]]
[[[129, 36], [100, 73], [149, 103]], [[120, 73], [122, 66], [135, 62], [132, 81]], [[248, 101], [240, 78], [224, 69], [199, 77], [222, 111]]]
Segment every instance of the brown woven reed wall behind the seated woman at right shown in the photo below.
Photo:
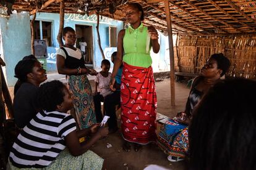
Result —
[[[186, 36], [177, 38], [175, 71], [200, 73], [211, 54], [222, 52], [231, 62], [226, 75], [256, 79], [256, 35]], [[174, 49], [175, 51], [176, 49]]]

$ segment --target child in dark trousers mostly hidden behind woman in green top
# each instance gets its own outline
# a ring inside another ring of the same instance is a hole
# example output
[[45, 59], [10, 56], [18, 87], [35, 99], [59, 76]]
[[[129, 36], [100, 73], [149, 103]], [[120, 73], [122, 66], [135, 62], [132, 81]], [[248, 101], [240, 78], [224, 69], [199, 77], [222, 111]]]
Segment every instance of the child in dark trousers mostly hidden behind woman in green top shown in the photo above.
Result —
[[[116, 54], [117, 52], [113, 52], [113, 54], [111, 55], [111, 61], [113, 63], [116, 60]], [[122, 76], [122, 65], [118, 69], [117, 75], [115, 77], [116, 83], [114, 84], [115, 85], [114, 88], [116, 89], [116, 91], [114, 91], [112, 94], [107, 95], [104, 100], [106, 116], [109, 116], [109, 119], [108, 119], [109, 133], [114, 133], [118, 130], [117, 120], [116, 120], [116, 105], [120, 105], [121, 76]]]

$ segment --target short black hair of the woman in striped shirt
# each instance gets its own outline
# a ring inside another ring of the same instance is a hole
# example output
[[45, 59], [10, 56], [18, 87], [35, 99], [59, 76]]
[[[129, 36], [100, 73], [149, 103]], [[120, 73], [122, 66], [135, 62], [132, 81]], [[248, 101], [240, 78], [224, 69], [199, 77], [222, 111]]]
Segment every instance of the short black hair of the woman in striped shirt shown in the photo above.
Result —
[[64, 88], [66, 86], [61, 81], [54, 80], [42, 84], [38, 91], [38, 105], [43, 110], [54, 111], [57, 105], [64, 101]]

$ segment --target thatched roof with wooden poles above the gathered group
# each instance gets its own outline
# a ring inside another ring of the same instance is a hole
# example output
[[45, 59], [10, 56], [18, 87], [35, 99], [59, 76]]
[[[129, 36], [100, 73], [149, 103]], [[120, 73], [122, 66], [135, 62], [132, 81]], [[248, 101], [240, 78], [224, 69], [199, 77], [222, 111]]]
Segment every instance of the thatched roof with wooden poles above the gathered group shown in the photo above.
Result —
[[[7, 0], [2, 0], [2, 2]], [[12, 0], [14, 1], [14, 0]], [[16, 0], [12, 10], [59, 13], [62, 0]], [[124, 20], [122, 9], [130, 2], [139, 2], [145, 11], [146, 25], [167, 31], [164, 1], [160, 0], [64, 0], [65, 13], [93, 14]], [[2, 3], [3, 4], [3, 3]], [[173, 33], [181, 34], [244, 34], [256, 33], [255, 0], [171, 0], [169, 10]], [[114, 14], [113, 14], [114, 13]]]

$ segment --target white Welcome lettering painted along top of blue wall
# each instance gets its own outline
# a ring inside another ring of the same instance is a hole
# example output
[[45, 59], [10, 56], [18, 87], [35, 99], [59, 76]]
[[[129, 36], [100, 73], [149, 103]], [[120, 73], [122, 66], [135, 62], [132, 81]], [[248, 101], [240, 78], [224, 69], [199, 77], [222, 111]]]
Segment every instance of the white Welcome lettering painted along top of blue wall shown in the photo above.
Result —
[[[65, 14], [64, 20], [80, 21], [80, 22], [97, 22], [96, 15], [80, 15], [80, 14]], [[100, 17], [100, 23], [111, 23], [114, 20], [108, 17]]]

